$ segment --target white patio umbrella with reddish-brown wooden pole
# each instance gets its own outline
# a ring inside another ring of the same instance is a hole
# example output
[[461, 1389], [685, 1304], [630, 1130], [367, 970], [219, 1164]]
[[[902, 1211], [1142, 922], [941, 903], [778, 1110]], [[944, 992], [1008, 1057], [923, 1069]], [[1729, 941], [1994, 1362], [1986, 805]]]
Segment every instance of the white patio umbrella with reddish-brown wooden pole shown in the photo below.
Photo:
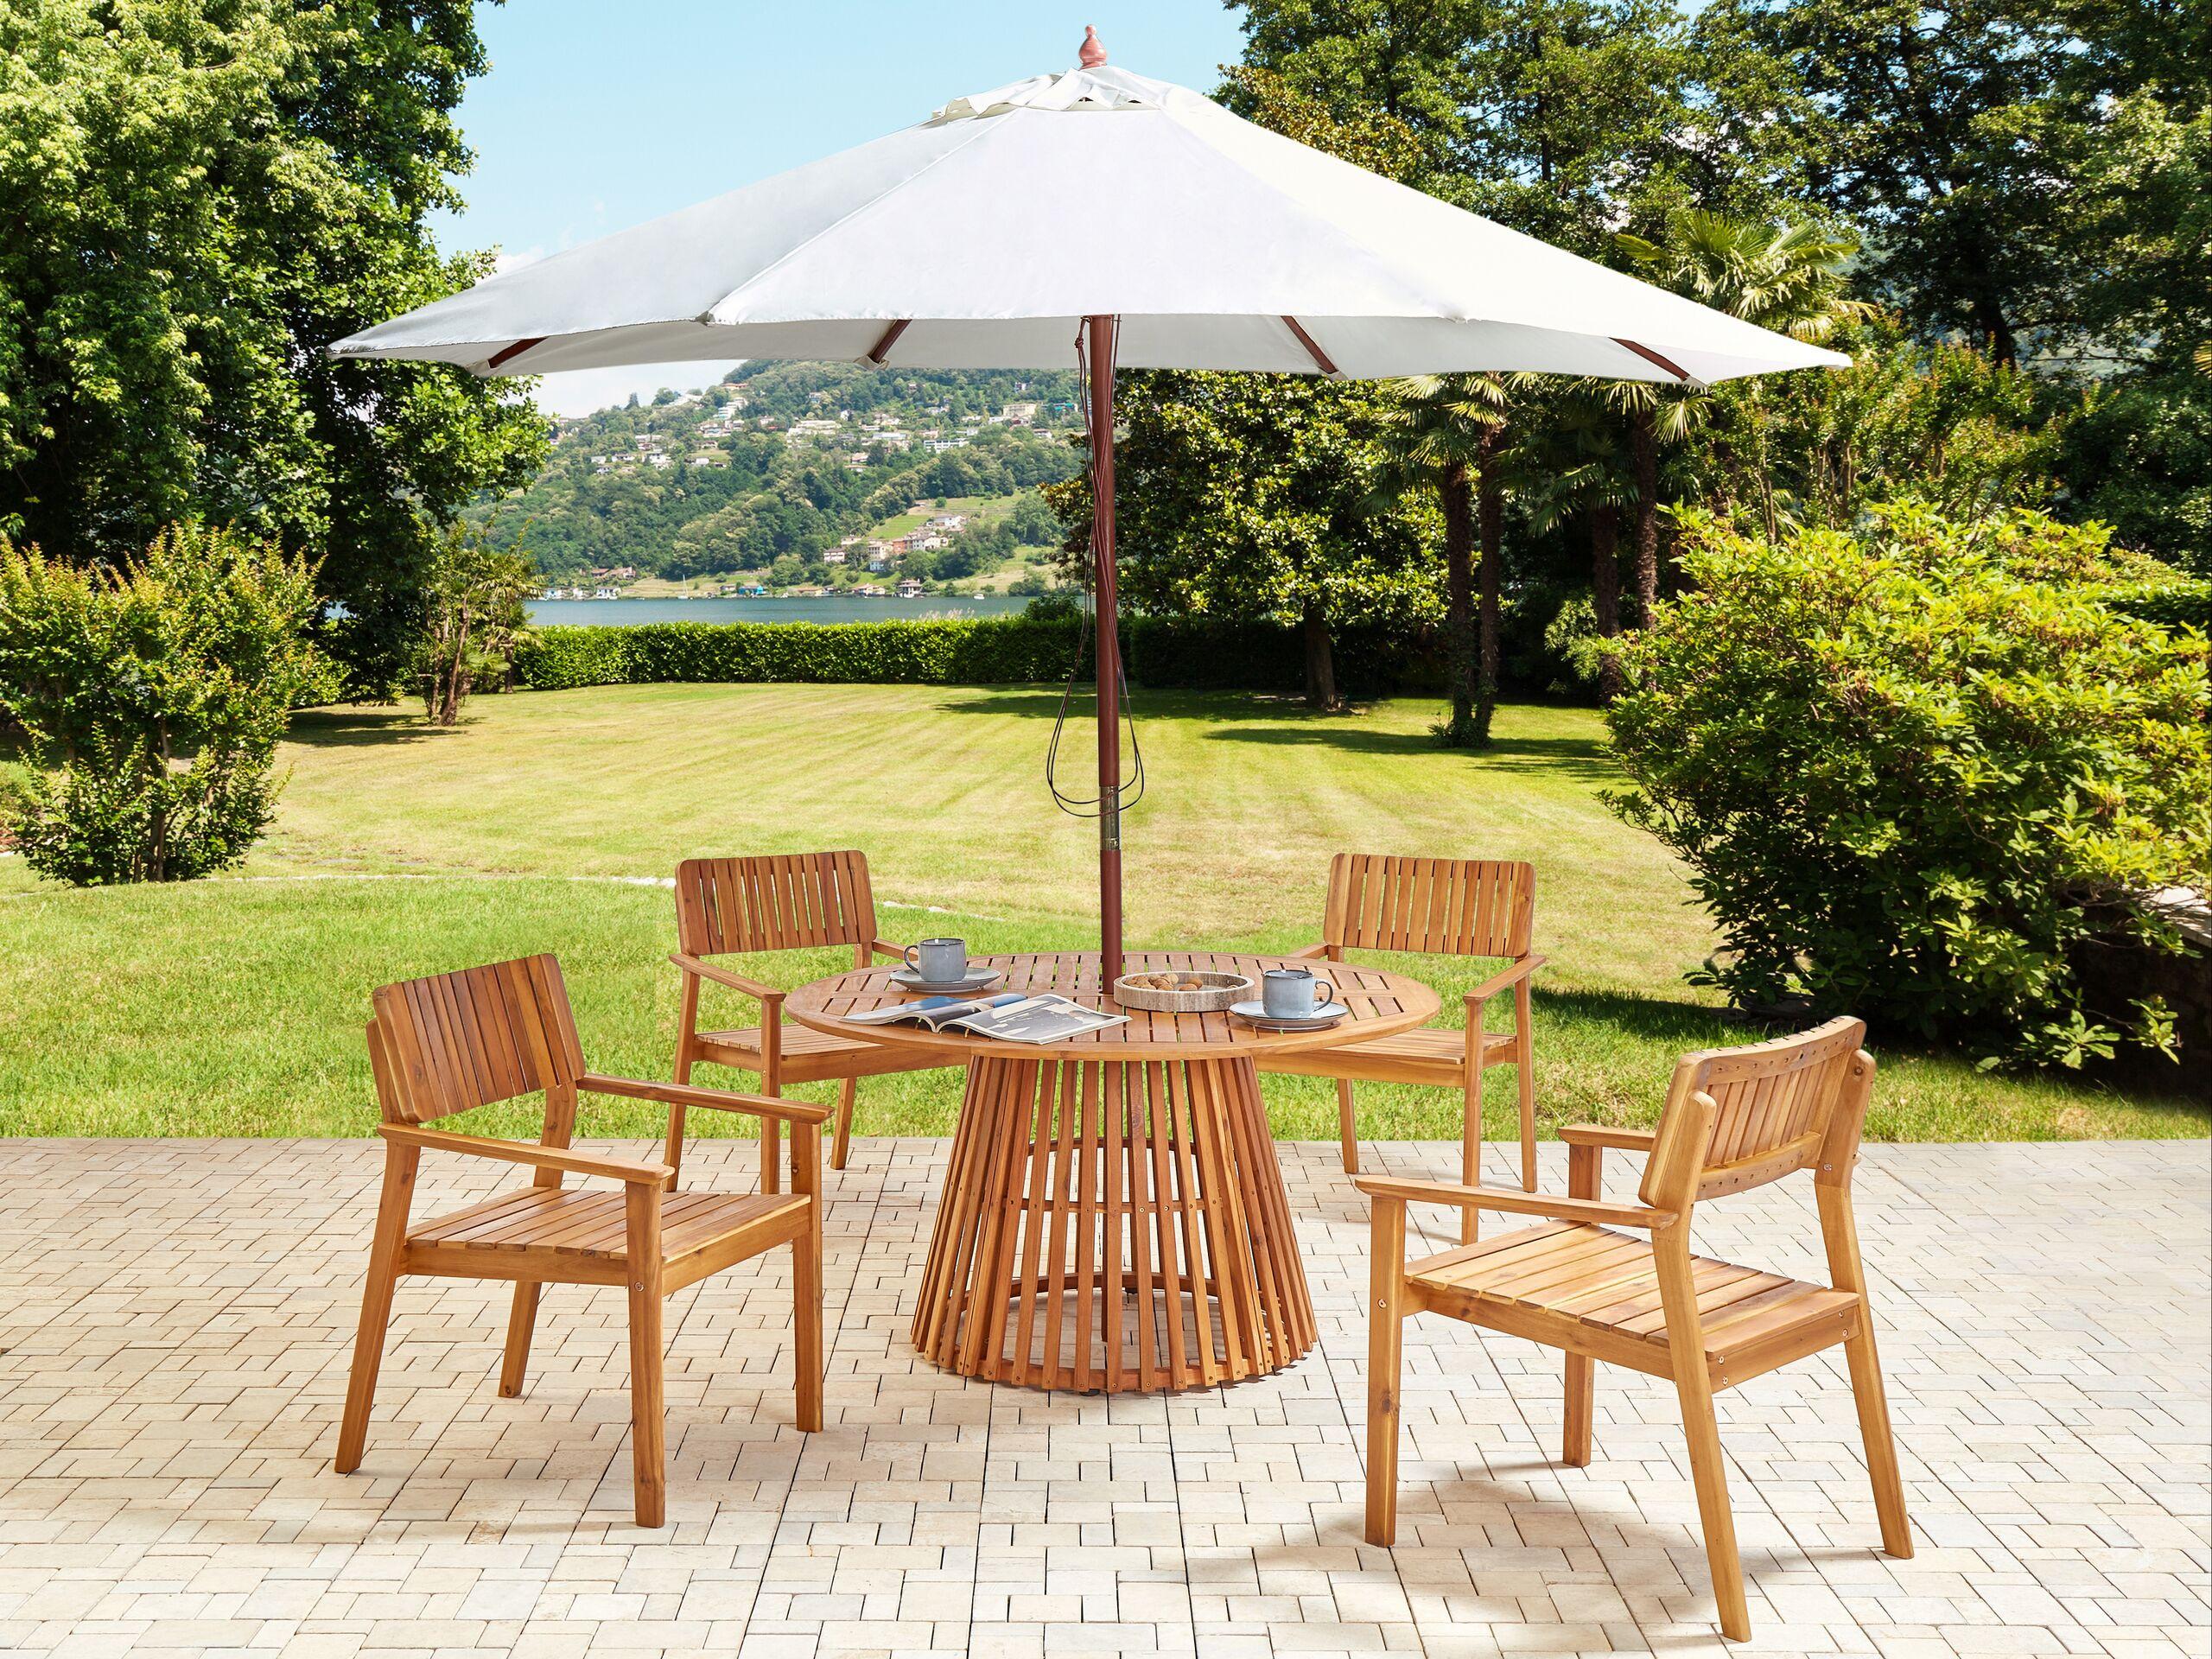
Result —
[[1095, 33], [1064, 75], [956, 97], [330, 349], [484, 376], [697, 358], [1088, 369], [1108, 984], [1121, 962], [1115, 365], [1694, 385], [1849, 361], [1108, 69]]

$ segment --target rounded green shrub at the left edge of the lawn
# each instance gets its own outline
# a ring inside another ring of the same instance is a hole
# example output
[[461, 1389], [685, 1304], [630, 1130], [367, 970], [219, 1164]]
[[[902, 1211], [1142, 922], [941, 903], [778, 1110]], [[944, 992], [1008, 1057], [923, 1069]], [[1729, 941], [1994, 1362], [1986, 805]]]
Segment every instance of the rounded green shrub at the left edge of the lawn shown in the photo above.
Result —
[[27, 732], [13, 836], [69, 883], [234, 865], [276, 799], [276, 739], [325, 672], [314, 571], [179, 524], [126, 571], [0, 542], [0, 703]]

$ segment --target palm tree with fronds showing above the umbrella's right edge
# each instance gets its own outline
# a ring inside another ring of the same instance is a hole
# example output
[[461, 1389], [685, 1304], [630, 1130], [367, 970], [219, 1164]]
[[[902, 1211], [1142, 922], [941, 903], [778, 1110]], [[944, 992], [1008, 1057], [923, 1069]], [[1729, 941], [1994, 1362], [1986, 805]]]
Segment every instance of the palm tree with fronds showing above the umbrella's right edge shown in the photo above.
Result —
[[[1621, 234], [1621, 252], [1655, 281], [1745, 323], [1772, 327], [1796, 341], [1825, 341], [1874, 305], [1845, 299], [1843, 279], [1858, 257], [1849, 232], [1814, 223], [1772, 226], [1721, 212], [1681, 208], [1668, 215], [1666, 243]], [[1756, 396], [1756, 392], [1754, 392]], [[1659, 445], [1681, 442], [1703, 418], [1699, 387], [1619, 380], [1613, 407], [1628, 416], [1635, 467], [1635, 593], [1639, 622], [1650, 624], [1659, 602]]]

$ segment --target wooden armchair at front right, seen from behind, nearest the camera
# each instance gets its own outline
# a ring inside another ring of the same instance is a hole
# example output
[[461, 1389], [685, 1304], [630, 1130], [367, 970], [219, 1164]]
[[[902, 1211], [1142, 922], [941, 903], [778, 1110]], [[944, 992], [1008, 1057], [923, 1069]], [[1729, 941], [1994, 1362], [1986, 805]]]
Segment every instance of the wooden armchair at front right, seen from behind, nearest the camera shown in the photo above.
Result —
[[[1398, 1365], [1405, 1321], [1444, 1314], [1564, 1349], [1564, 1460], [1590, 1460], [1597, 1360], [1672, 1378], [1690, 1440], [1721, 1632], [1752, 1632], [1728, 1509], [1719, 1389], [1843, 1343], [1858, 1431], [1874, 1478], [1882, 1548], [1913, 1553], [1905, 1482], [1889, 1436], [1889, 1400], [1874, 1352], [1874, 1314], [1851, 1219], [1851, 1170], [1874, 1093], [1863, 1020], [1745, 1048], [1708, 1048], [1674, 1066], [1657, 1130], [1568, 1128], [1568, 1197], [1511, 1188], [1360, 1177], [1374, 1199], [1367, 1371], [1367, 1542], [1398, 1528]], [[1601, 1197], [1604, 1148], [1644, 1152], [1635, 1203]], [[1820, 1239], [1834, 1283], [1732, 1267], [1690, 1254], [1690, 1210], [1798, 1170], [1814, 1172]], [[1405, 1261], [1405, 1206], [1449, 1203], [1544, 1217], [1422, 1261]], [[1632, 1228], [1635, 1232], [1621, 1232]], [[1641, 1237], [1637, 1237], [1641, 1234]]]

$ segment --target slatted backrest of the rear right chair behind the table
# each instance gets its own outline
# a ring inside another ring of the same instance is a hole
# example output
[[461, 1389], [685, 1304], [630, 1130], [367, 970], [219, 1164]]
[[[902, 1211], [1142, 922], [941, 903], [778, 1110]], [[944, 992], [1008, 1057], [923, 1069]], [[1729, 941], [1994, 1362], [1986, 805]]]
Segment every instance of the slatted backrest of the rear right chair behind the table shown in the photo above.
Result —
[[1329, 863], [1321, 938], [1367, 951], [1520, 958], [1533, 922], [1531, 863], [1340, 852]]

